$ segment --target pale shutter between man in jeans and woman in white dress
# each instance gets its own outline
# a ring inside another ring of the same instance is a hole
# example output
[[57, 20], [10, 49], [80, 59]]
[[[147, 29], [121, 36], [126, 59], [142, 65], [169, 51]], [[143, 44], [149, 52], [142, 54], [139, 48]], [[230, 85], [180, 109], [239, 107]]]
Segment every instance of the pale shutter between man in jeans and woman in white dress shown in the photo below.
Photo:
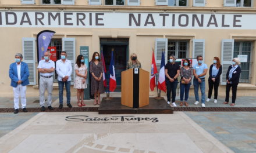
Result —
[[67, 60], [71, 61], [73, 72], [71, 74], [71, 84], [74, 84], [74, 64], [76, 63], [76, 41], [75, 38], [62, 38], [62, 50], [67, 53]]

